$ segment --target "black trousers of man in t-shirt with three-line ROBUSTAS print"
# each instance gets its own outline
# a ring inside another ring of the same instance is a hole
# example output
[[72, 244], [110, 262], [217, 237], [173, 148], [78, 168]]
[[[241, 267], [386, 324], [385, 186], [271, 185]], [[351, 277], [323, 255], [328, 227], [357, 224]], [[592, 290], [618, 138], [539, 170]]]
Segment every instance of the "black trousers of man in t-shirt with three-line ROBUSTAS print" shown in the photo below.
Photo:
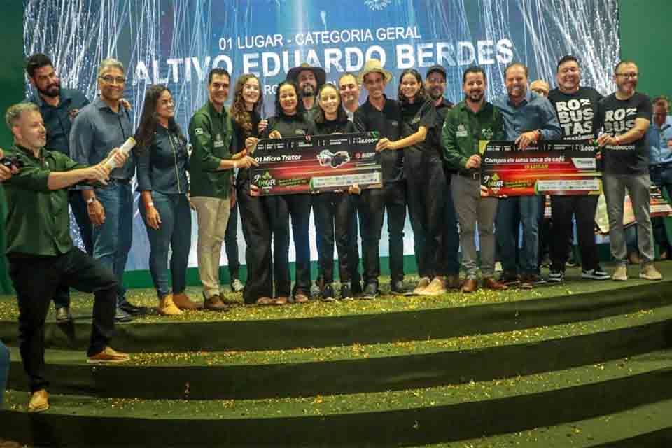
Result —
[[579, 240], [581, 267], [596, 269], [599, 265], [595, 244], [595, 209], [597, 195], [551, 196], [551, 219], [553, 237], [550, 242], [552, 269], [565, 270], [567, 244], [572, 236], [572, 215], [576, 219], [576, 235]]

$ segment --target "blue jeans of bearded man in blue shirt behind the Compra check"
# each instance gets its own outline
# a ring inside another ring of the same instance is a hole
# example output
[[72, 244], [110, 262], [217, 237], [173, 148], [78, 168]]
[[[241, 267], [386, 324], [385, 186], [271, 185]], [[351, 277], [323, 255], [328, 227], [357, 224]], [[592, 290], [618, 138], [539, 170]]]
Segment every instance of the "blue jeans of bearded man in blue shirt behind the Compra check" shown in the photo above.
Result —
[[507, 197], [499, 201], [495, 234], [499, 243], [499, 260], [507, 274], [517, 274], [516, 229], [523, 225], [523, 246], [520, 253], [520, 273], [538, 274], [539, 258], [539, 208], [538, 196]]

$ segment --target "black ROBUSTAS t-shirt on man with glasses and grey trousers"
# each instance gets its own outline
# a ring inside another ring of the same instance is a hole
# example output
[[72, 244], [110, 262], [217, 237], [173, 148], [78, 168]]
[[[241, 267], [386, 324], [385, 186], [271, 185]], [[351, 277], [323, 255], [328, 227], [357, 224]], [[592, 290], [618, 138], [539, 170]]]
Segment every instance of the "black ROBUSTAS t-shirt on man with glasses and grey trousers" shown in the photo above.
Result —
[[[651, 100], [635, 92], [628, 99], [618, 99], [616, 94], [605, 97], [599, 106], [599, 123], [612, 137], [625, 134], [635, 127], [635, 120], [651, 120]], [[644, 174], [648, 172], [649, 148], [646, 135], [628, 144], [607, 145], [602, 151], [604, 172], [611, 174]]]

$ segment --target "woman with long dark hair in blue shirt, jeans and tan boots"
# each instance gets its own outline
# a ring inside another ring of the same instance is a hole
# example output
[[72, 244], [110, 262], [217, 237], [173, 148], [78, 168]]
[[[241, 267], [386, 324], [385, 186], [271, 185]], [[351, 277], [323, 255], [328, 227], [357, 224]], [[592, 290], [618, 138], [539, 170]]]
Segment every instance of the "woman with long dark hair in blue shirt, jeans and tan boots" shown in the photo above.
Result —
[[185, 293], [191, 248], [189, 155], [187, 139], [175, 122], [172, 94], [164, 85], [153, 85], [146, 91], [135, 139], [137, 190], [142, 196], [139, 209], [149, 237], [149, 269], [159, 297], [159, 312], [182, 314], [181, 309], [197, 309]]

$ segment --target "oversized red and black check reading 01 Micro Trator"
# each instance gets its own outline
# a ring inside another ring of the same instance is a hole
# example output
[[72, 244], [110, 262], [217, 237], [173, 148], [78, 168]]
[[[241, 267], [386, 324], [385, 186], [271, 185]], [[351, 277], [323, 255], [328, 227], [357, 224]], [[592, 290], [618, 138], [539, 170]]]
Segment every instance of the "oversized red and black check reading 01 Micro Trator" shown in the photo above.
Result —
[[370, 132], [263, 139], [253, 157], [251, 182], [262, 195], [381, 188], [379, 137]]

